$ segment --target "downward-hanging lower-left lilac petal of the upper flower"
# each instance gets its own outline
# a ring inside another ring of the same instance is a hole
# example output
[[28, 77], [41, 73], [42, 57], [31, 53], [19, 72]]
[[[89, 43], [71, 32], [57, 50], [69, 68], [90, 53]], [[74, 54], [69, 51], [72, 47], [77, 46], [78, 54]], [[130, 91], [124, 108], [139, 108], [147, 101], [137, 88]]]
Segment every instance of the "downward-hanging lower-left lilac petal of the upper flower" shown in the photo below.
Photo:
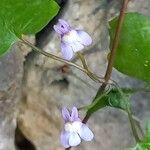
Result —
[[72, 57], [73, 57], [73, 51], [72, 51], [72, 48], [69, 44], [66, 44], [66, 43], [61, 43], [61, 52], [62, 52], [62, 55], [64, 57], [64, 59], [66, 60], [71, 60]]

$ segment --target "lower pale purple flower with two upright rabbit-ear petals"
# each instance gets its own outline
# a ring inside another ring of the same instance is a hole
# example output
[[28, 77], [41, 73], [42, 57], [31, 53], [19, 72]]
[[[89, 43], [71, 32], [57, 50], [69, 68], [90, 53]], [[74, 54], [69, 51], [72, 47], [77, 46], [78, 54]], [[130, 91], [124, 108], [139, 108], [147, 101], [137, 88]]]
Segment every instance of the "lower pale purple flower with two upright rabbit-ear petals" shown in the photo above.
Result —
[[62, 116], [65, 121], [65, 126], [61, 132], [61, 144], [65, 148], [79, 145], [81, 139], [84, 141], [91, 141], [93, 139], [94, 135], [92, 131], [81, 122], [76, 107], [73, 107], [71, 112], [63, 108]]

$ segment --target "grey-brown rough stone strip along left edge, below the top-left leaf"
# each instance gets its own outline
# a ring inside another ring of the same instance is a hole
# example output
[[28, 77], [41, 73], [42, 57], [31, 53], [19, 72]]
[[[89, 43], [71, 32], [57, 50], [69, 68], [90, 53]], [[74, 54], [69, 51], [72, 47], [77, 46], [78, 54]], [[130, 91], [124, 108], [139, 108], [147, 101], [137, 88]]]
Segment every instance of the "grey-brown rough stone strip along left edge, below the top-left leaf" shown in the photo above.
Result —
[[0, 150], [15, 149], [17, 103], [21, 96], [26, 51], [29, 48], [18, 43], [0, 58]]

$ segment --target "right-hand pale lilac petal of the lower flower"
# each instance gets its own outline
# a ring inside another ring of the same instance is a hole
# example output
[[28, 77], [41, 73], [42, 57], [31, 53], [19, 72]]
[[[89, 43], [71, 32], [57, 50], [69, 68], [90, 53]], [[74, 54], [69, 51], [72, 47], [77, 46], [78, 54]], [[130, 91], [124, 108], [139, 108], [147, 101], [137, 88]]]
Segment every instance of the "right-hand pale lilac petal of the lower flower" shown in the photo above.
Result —
[[94, 138], [93, 132], [85, 124], [82, 124], [79, 135], [85, 141], [91, 141]]

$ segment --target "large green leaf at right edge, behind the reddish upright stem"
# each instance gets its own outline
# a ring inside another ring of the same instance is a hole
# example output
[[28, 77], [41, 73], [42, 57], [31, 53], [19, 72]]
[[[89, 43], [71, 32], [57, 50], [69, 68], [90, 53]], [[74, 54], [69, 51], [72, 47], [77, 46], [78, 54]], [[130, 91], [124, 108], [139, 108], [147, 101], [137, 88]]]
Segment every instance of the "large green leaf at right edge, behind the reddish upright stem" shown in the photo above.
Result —
[[[117, 19], [109, 22], [111, 44]], [[150, 81], [150, 17], [138, 13], [125, 15], [114, 67], [126, 75]]]

